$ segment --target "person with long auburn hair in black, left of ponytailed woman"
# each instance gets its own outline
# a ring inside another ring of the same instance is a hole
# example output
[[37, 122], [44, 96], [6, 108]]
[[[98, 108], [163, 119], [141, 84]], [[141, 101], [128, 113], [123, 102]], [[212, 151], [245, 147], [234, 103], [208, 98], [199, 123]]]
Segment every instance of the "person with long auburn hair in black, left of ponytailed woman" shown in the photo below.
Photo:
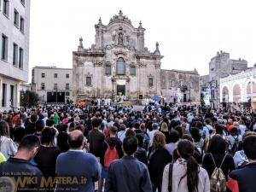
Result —
[[152, 147], [148, 149], [148, 172], [151, 178], [153, 191], [161, 191], [162, 176], [165, 166], [172, 162], [172, 154], [166, 150], [166, 137], [163, 133], [156, 132]]

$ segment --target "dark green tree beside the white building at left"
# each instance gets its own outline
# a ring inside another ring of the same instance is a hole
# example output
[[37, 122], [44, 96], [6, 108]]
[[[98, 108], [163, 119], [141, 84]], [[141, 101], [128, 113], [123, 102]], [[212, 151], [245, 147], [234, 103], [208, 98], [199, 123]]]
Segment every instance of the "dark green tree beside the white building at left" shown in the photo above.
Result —
[[20, 106], [23, 108], [32, 108], [38, 105], [38, 94], [31, 90], [20, 91]]

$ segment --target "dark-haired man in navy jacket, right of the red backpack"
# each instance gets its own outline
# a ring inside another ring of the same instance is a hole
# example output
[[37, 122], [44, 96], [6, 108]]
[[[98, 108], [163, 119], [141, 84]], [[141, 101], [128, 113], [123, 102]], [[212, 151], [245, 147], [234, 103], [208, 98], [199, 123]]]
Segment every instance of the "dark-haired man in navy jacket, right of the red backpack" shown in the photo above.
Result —
[[110, 164], [105, 192], [152, 192], [147, 167], [134, 157], [137, 148], [136, 137], [125, 137], [123, 142], [125, 155]]

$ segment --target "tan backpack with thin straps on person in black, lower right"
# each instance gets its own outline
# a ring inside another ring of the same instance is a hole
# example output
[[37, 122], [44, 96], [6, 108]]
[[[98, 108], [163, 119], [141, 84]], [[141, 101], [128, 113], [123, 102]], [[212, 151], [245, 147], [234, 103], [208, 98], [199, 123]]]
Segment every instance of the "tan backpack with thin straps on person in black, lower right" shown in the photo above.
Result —
[[[211, 154], [212, 156], [212, 154]], [[221, 169], [221, 166], [226, 158], [226, 154], [221, 162], [221, 165], [219, 167], [216, 166], [215, 160], [212, 156], [212, 160], [215, 166], [214, 171], [212, 172], [211, 180], [210, 180], [210, 186], [212, 192], [226, 192], [226, 177], [224, 176], [224, 172]]]

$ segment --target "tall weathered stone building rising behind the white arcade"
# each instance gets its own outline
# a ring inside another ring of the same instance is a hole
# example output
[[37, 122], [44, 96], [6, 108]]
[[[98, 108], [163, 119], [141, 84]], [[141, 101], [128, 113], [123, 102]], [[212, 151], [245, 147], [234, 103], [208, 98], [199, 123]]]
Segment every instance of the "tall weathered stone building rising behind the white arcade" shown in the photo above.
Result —
[[201, 78], [201, 81], [204, 81], [201, 82], [201, 89], [210, 90], [212, 108], [218, 108], [220, 104], [220, 79], [246, 69], [247, 61], [230, 59], [230, 54], [222, 50], [212, 57], [209, 62], [209, 75]]

